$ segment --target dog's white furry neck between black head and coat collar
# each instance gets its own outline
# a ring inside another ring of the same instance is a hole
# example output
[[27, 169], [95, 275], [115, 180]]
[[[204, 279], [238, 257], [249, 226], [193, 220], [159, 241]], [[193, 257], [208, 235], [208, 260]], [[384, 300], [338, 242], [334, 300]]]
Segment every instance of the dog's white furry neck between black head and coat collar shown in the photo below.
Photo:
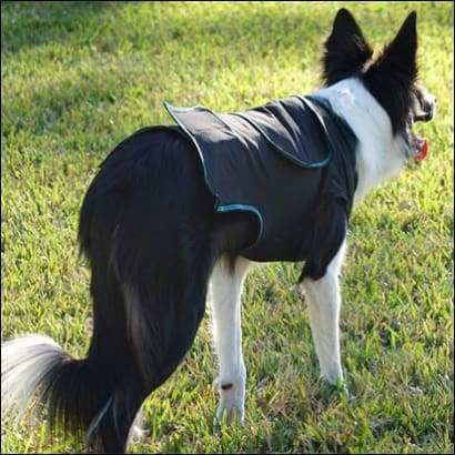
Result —
[[354, 194], [354, 205], [358, 205], [372, 189], [403, 168], [406, 162], [403, 139], [392, 134], [387, 113], [358, 79], [345, 79], [315, 94], [331, 102], [358, 139], [358, 182]]

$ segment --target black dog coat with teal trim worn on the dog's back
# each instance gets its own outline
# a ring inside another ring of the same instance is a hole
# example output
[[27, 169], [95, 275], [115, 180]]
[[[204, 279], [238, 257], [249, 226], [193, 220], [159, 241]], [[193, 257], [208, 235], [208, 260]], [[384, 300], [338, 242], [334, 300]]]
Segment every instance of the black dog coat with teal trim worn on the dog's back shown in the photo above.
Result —
[[242, 255], [305, 261], [301, 280], [323, 276], [357, 181], [356, 136], [330, 103], [295, 95], [228, 114], [164, 105], [195, 145], [216, 212], [254, 215], [256, 239]]

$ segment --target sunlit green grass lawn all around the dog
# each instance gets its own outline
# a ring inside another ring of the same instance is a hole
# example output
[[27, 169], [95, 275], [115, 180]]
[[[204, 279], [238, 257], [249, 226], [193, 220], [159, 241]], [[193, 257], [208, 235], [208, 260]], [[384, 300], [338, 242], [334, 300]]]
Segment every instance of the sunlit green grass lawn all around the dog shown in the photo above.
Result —
[[[316, 89], [341, 4], [2, 3], [2, 340], [38, 332], [83, 356], [91, 302], [75, 232], [103, 158], [133, 131], [169, 123], [164, 100], [230, 111]], [[418, 127], [428, 160], [352, 218], [342, 280], [351, 396], [317, 381], [299, 265], [270, 264], [244, 291], [246, 426], [213, 427], [208, 315], [146, 401], [150, 438], [133, 452], [453, 452], [453, 4], [347, 6], [376, 46], [417, 10], [421, 75], [439, 109]], [[2, 422], [2, 452], [78, 451], [43, 431]]]

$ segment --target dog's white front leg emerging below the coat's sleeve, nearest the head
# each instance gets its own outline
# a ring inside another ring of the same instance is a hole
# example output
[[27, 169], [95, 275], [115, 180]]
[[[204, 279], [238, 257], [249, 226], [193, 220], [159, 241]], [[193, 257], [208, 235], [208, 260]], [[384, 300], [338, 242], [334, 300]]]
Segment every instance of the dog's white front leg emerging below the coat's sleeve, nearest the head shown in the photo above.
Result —
[[344, 259], [345, 241], [327, 271], [320, 280], [305, 277], [303, 286], [309, 303], [311, 331], [320, 361], [321, 376], [332, 384], [343, 381], [340, 360], [338, 317], [341, 294], [340, 269]]

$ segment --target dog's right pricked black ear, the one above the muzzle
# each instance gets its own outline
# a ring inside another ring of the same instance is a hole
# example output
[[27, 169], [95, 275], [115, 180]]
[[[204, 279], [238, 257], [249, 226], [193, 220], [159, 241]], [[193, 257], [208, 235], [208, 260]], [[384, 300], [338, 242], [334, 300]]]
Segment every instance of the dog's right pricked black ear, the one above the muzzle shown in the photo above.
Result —
[[403, 22], [394, 40], [368, 70], [400, 78], [404, 87], [411, 87], [417, 78], [417, 14], [413, 11]]

